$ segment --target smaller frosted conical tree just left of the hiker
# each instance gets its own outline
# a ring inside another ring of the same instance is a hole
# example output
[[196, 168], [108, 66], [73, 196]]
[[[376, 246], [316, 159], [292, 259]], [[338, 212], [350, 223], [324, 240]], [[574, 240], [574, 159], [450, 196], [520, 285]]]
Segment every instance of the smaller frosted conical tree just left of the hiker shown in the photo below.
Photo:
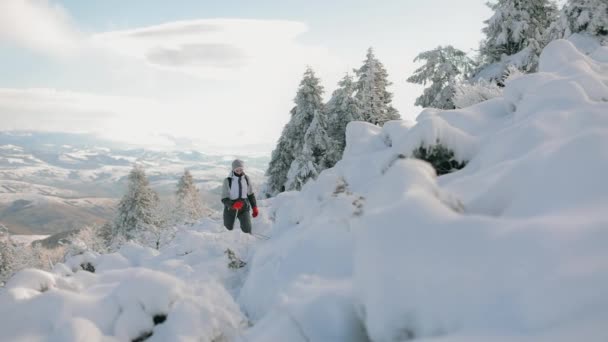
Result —
[[203, 203], [201, 194], [194, 185], [192, 174], [188, 170], [184, 170], [184, 174], [177, 182], [176, 206], [175, 206], [175, 222], [194, 224], [204, 215]]

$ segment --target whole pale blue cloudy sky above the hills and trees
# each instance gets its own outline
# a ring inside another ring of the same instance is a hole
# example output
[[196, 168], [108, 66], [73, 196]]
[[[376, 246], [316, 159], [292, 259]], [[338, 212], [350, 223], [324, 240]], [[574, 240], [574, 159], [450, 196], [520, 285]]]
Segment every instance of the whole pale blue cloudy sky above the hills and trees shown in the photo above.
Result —
[[475, 53], [485, 0], [2, 0], [0, 130], [269, 153], [307, 66], [325, 99], [373, 47], [394, 106], [438, 45]]

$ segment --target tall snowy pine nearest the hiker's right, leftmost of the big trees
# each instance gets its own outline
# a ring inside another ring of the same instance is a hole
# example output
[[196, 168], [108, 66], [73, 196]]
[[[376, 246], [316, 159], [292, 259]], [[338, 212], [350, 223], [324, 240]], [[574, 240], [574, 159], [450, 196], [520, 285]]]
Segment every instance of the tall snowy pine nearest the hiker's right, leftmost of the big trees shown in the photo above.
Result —
[[[268, 190], [273, 194], [284, 191], [287, 173], [293, 161], [302, 153], [304, 137], [315, 115], [323, 113], [323, 87], [314, 71], [308, 67], [295, 98], [291, 119], [283, 129], [277, 147], [272, 152], [266, 175]], [[321, 114], [322, 115], [322, 114]]]

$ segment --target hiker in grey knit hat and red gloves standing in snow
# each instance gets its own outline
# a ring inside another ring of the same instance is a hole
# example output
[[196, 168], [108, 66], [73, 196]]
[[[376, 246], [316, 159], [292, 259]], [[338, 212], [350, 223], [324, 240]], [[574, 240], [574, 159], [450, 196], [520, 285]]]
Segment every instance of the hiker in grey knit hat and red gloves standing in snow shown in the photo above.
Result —
[[244, 172], [245, 163], [236, 159], [232, 162], [232, 172], [224, 179], [222, 186], [222, 203], [224, 203], [224, 227], [234, 228], [236, 218], [241, 223], [241, 230], [251, 234], [251, 216], [258, 216], [258, 206], [253, 194], [251, 180]]

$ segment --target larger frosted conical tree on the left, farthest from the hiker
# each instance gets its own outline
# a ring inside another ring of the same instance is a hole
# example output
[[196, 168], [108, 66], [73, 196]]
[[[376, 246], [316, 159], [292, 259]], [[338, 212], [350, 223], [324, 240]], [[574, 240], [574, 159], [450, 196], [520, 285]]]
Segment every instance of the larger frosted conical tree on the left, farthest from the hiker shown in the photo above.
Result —
[[127, 193], [118, 204], [113, 238], [132, 240], [139, 233], [156, 229], [158, 203], [158, 194], [150, 188], [143, 167], [135, 165], [129, 173]]

